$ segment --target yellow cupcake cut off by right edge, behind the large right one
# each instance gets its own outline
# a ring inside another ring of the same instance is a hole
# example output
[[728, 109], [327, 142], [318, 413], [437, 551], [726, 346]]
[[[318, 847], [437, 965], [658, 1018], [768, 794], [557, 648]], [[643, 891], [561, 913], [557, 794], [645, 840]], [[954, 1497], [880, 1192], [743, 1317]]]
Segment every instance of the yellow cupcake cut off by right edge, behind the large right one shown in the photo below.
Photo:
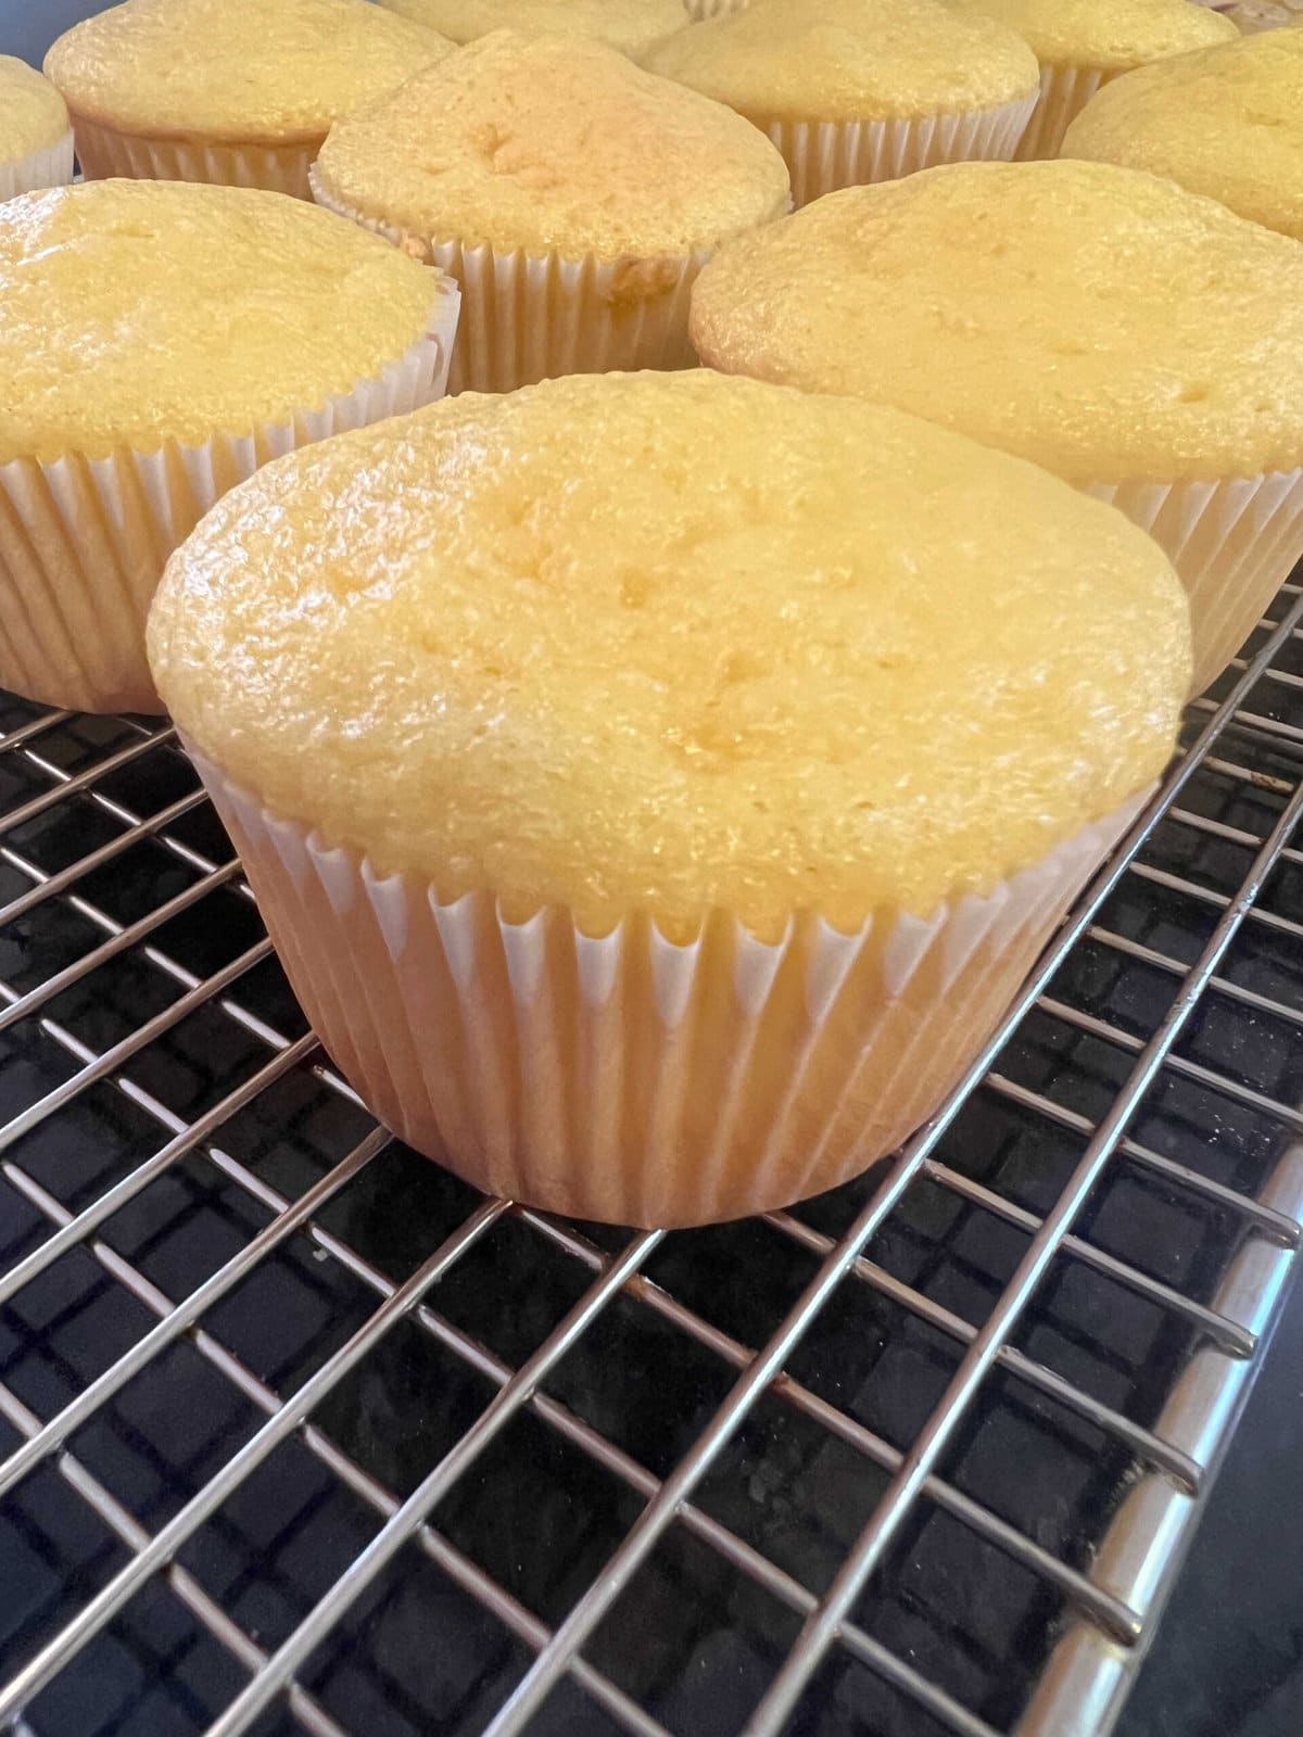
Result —
[[1303, 31], [1242, 36], [1117, 78], [1063, 156], [1169, 175], [1303, 241]]

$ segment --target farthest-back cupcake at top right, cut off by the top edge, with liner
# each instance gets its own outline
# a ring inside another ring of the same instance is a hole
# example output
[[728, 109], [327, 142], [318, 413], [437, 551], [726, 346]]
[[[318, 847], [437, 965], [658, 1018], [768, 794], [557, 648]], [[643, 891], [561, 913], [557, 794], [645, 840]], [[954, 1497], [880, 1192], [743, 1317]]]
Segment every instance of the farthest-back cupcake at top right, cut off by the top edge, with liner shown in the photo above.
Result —
[[1041, 101], [1018, 146], [1020, 158], [1058, 156], [1068, 122], [1100, 85], [1148, 61], [1188, 54], [1239, 31], [1220, 12], [1190, 0], [949, 0], [962, 12], [997, 17], [1025, 36], [1041, 63]]

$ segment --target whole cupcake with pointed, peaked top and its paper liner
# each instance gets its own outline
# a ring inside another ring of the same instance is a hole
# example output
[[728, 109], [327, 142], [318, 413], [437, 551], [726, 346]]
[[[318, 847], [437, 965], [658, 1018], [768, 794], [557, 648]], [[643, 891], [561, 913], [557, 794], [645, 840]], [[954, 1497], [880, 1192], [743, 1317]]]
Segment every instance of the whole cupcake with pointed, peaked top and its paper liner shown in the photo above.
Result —
[[462, 287], [452, 389], [685, 368], [711, 252], [789, 205], [778, 151], [598, 42], [493, 31], [332, 127], [321, 205]]

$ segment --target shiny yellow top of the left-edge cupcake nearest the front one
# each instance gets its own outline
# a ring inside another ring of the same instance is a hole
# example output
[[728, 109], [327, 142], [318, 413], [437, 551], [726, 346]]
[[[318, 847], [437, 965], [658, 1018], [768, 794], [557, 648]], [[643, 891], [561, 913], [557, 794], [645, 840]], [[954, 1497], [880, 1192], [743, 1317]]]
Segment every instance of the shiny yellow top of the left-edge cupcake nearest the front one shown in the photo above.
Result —
[[446, 294], [302, 200], [89, 181], [0, 205], [0, 462], [156, 450], [375, 379]]

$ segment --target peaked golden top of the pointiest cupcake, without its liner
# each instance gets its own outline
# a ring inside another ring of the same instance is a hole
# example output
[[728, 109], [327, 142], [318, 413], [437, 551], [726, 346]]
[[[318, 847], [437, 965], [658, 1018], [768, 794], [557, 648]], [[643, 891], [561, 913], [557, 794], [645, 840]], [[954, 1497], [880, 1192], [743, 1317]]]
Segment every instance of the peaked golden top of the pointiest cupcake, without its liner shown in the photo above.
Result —
[[789, 203], [740, 115], [603, 43], [506, 30], [334, 127], [314, 184], [417, 236], [608, 261], [709, 248]]

